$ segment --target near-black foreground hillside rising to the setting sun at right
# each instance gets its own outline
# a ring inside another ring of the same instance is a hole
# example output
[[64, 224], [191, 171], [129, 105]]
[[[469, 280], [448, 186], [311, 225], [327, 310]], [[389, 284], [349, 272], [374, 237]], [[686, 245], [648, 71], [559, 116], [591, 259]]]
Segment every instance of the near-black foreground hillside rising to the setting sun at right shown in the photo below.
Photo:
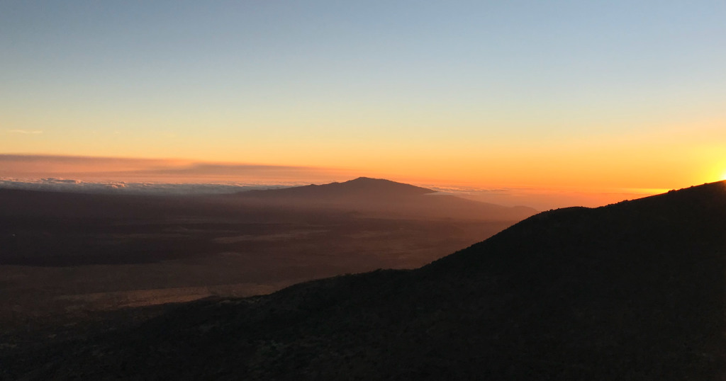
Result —
[[540, 213], [413, 271], [203, 300], [7, 378], [722, 380], [726, 186]]

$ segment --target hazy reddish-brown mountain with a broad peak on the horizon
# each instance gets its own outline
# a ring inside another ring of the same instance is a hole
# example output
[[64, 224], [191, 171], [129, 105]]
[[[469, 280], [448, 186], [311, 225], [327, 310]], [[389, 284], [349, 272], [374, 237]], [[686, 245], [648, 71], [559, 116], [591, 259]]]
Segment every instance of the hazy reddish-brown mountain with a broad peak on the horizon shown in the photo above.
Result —
[[375, 216], [426, 216], [431, 218], [472, 218], [491, 221], [520, 221], [537, 210], [525, 206], [505, 207], [437, 194], [385, 179], [358, 179], [342, 183], [306, 185], [283, 189], [253, 190], [235, 197], [265, 205], [295, 208], [343, 208]]

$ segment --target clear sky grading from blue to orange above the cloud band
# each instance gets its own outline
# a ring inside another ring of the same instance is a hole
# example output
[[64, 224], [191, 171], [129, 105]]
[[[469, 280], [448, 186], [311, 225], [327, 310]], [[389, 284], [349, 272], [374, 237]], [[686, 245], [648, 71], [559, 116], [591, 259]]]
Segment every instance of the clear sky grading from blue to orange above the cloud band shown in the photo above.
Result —
[[0, 3], [0, 154], [481, 187], [726, 177], [726, 2]]

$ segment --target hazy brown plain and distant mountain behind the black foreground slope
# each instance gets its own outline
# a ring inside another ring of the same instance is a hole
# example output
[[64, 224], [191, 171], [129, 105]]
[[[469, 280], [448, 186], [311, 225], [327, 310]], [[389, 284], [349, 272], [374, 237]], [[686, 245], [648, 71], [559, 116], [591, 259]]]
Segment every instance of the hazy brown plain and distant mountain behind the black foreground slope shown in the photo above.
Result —
[[7, 332], [413, 269], [535, 213], [366, 178], [206, 195], [0, 189], [0, 205]]

